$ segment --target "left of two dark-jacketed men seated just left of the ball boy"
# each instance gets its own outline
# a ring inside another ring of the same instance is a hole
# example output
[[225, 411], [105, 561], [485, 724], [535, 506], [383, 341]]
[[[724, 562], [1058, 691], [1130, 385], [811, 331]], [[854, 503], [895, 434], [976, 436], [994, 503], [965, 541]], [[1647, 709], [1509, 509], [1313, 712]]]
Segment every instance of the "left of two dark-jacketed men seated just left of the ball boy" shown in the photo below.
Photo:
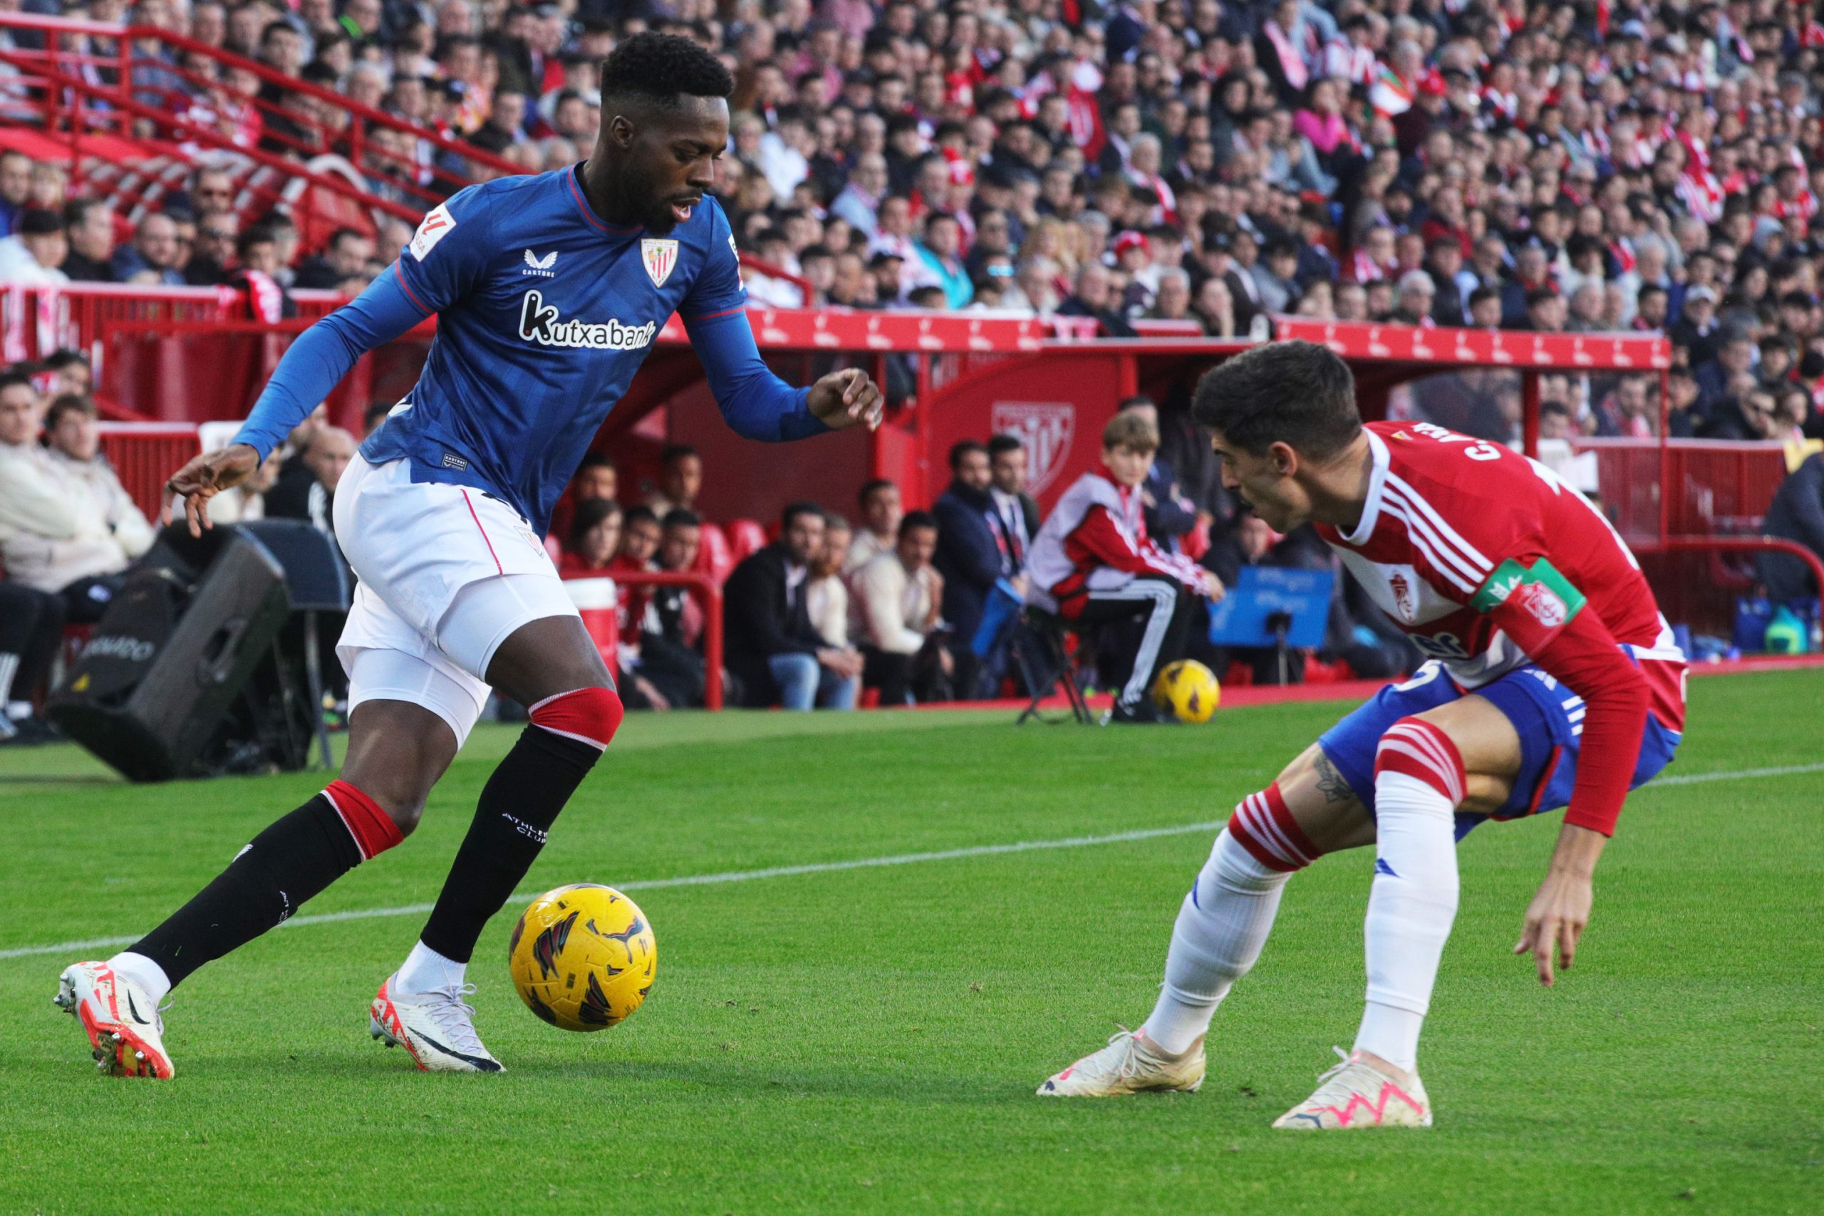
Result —
[[1000, 578], [1018, 578], [1014, 551], [994, 505], [994, 474], [989, 448], [963, 439], [950, 448], [950, 489], [932, 505], [938, 516], [938, 558], [943, 574], [943, 618], [948, 622], [956, 689], [976, 695], [978, 662], [972, 649], [981, 611]]

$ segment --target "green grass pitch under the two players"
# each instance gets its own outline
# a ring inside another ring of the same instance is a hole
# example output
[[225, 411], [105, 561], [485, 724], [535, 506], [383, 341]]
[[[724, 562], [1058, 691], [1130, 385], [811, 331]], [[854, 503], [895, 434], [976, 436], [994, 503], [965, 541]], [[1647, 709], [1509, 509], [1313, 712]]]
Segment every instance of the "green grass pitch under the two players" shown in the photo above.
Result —
[[[1629, 802], [1552, 992], [1508, 950], [1558, 817], [1470, 835], [1430, 1132], [1268, 1128], [1353, 1036], [1364, 851], [1293, 881], [1200, 1094], [1102, 1103], [1032, 1088], [1145, 1017], [1211, 831], [651, 882], [1220, 820], [1341, 709], [629, 718], [527, 890], [627, 884], [657, 988], [551, 1030], [498, 917], [471, 972], [496, 1077], [367, 1036], [421, 913], [274, 932], [179, 990], [173, 1083], [95, 1076], [49, 997], [111, 950], [27, 952], [144, 930], [321, 777], [128, 788], [0, 753], [0, 1212], [1824, 1211], [1820, 671], [1691, 682], [1674, 780]], [[478, 731], [418, 835], [305, 912], [430, 901], [511, 738]]]

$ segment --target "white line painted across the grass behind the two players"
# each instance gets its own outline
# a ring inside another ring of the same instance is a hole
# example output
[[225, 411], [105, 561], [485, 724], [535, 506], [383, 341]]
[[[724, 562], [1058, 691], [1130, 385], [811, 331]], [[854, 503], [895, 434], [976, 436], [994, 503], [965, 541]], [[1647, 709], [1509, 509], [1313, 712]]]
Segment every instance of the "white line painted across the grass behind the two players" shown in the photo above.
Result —
[[[1795, 777], [1800, 773], [1824, 773], [1824, 762], [1786, 764], [1780, 768], [1729, 769], [1724, 773], [1682, 773], [1660, 777], [1645, 789], [1656, 786], [1696, 786], [1713, 780], [1755, 780], [1762, 777]], [[932, 860], [958, 860], [963, 857], [996, 857], [1001, 853], [1036, 853], [1042, 850], [1094, 848], [1098, 844], [1129, 844], [1133, 840], [1156, 840], [1160, 837], [1182, 837], [1198, 831], [1217, 831], [1226, 820], [1202, 824], [1180, 824], [1176, 828], [1142, 828], [1136, 831], [1111, 831], [1098, 837], [1062, 837], [1058, 840], [1014, 840], [1010, 844], [972, 844], [969, 848], [936, 850], [928, 853], [894, 853], [890, 857], [857, 857], [852, 860], [819, 860], [803, 866], [768, 866], [766, 870], [726, 870], [722, 873], [689, 873], [677, 879], [642, 879], [635, 882], [613, 884], [622, 891], [657, 891], [669, 886], [720, 886], [724, 882], [753, 882], [755, 879], [790, 879], [803, 873], [837, 873], [843, 870], [877, 870], [881, 866], [916, 866]], [[542, 891], [520, 891], [513, 901], [527, 901]], [[379, 917], [421, 917], [432, 904], [399, 904], [394, 908], [352, 908], [348, 912], [325, 912], [316, 915], [292, 917], [279, 928], [299, 924], [334, 924], [336, 921], [374, 921]], [[13, 946], [0, 950], [0, 959], [24, 959], [40, 953], [75, 953], [80, 950], [100, 950], [108, 946], [131, 946], [139, 937], [89, 937], [86, 941], [66, 941], [49, 946]]]

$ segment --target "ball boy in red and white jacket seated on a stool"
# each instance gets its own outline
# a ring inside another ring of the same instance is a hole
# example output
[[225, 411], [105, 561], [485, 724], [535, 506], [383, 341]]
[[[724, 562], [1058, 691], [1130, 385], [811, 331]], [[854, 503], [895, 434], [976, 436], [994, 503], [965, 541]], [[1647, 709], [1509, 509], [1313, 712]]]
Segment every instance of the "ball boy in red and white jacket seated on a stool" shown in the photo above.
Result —
[[1116, 722], [1162, 720], [1147, 696], [1153, 675], [1184, 658], [1197, 596], [1222, 598], [1215, 574], [1145, 534], [1140, 485], [1155, 452], [1153, 419], [1116, 414], [1102, 430], [1102, 472], [1085, 472], [1063, 492], [1027, 556], [1027, 598], [1047, 613], [1082, 625], [1145, 620], [1111, 711]]

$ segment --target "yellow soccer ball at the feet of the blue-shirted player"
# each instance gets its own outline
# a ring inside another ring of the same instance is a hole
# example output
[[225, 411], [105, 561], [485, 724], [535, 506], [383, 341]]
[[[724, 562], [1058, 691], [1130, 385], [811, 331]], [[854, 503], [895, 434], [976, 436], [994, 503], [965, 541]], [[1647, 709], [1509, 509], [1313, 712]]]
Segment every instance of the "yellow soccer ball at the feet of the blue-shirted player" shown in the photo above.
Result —
[[545, 891], [513, 926], [507, 968], [525, 1008], [558, 1030], [606, 1030], [653, 990], [658, 943], [640, 906], [611, 886]]

